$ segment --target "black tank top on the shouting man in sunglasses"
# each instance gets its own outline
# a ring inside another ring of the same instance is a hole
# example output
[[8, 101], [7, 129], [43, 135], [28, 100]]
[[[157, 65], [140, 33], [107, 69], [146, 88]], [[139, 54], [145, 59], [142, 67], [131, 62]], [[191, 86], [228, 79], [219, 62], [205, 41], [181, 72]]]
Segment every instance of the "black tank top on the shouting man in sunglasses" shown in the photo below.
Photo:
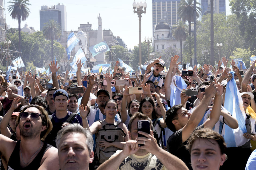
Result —
[[10, 156], [10, 159], [9, 159], [9, 162], [7, 165], [7, 169], [12, 169], [12, 170], [38, 169], [40, 167], [40, 163], [43, 158], [43, 155], [45, 154], [47, 149], [49, 149], [52, 146], [43, 142], [43, 147], [42, 147], [41, 151], [37, 154], [37, 156], [34, 158], [34, 160], [29, 165], [22, 168], [20, 158], [19, 158], [20, 142], [21, 142], [21, 140], [17, 141], [17, 143], [15, 145], [13, 153]]

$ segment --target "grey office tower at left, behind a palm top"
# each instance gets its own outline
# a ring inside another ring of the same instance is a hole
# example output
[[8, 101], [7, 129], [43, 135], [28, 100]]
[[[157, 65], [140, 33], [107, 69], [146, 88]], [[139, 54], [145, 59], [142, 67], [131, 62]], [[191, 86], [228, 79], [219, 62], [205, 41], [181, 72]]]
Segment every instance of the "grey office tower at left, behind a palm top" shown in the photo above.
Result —
[[65, 5], [60, 5], [59, 3], [55, 6], [48, 7], [46, 5], [41, 6], [40, 14], [40, 31], [42, 31], [43, 26], [46, 22], [53, 19], [61, 25], [61, 32], [67, 31], [67, 11]]

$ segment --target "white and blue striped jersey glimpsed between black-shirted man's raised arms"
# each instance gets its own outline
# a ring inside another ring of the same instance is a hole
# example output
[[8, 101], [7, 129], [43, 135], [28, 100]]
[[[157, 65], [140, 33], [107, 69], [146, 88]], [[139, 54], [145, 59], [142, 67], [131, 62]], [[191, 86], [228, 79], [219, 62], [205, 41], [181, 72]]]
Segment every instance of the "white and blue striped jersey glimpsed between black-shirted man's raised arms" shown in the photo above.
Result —
[[[196, 108], [196, 107], [193, 107], [193, 108], [192, 108], [191, 110], [189, 110], [188, 112], [189, 112], [189, 113], [193, 113], [193, 111], [194, 111], [195, 108]], [[205, 112], [205, 114], [204, 114], [202, 120], [200, 121], [200, 123], [198, 124], [198, 126], [202, 125], [202, 124], [210, 117], [211, 109], [212, 109], [212, 108], [208, 109], [208, 110]], [[228, 113], [228, 114], [231, 115], [231, 113], [230, 113], [229, 111], [227, 111], [227, 109], [225, 109], [223, 106], [221, 106], [221, 110], [223, 110], [223, 111], [225, 111], [226, 113]], [[225, 123], [224, 123], [224, 117], [223, 117], [222, 115], [220, 115], [220, 116], [219, 116], [219, 121], [216, 122], [215, 126], [213, 127], [213, 130], [223, 136], [223, 135], [225, 134], [225, 126], [224, 126], [224, 124], [225, 124]]]

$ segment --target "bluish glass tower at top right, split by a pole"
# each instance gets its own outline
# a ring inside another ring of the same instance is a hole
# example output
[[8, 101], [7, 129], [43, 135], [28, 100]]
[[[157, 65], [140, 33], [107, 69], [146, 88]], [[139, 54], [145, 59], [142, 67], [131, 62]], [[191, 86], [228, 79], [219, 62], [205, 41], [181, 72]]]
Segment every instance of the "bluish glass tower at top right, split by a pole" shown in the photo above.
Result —
[[[210, 10], [210, 0], [201, 0], [202, 15], [206, 14]], [[208, 9], [207, 9], [208, 8]], [[226, 15], [226, 2], [225, 0], [213, 0], [214, 12], [218, 14], [223, 12]]]

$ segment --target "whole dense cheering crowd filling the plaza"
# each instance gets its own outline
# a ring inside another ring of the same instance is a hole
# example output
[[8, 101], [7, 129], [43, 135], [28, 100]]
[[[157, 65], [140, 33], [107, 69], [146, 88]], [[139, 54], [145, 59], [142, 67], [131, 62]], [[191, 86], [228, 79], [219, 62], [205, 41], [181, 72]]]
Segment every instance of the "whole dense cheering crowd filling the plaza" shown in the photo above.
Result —
[[1, 170], [256, 169], [256, 60], [178, 60], [156, 58], [144, 74], [118, 61], [81, 73], [78, 60], [76, 74], [53, 61], [50, 75], [0, 75]]

